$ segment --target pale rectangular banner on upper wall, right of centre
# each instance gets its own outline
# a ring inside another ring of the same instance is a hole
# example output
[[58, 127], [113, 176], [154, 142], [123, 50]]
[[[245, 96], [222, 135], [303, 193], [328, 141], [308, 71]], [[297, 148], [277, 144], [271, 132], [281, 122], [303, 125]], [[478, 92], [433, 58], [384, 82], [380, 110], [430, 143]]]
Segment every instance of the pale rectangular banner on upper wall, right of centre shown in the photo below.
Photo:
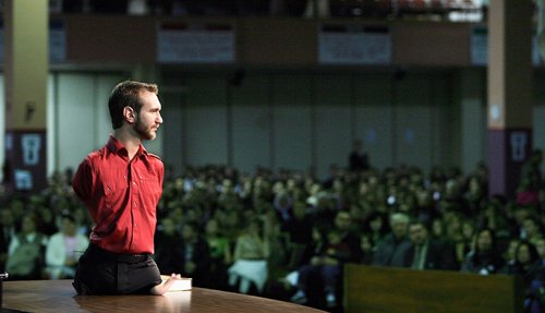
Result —
[[391, 34], [385, 26], [322, 25], [318, 32], [320, 64], [389, 64]]

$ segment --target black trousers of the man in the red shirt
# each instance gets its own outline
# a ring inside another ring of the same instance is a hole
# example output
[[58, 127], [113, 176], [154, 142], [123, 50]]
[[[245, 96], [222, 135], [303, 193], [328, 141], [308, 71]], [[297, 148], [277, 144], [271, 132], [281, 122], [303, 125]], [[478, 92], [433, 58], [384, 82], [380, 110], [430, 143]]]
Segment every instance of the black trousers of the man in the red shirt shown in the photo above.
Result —
[[148, 294], [159, 284], [159, 268], [150, 255], [117, 254], [89, 244], [72, 285], [78, 294]]

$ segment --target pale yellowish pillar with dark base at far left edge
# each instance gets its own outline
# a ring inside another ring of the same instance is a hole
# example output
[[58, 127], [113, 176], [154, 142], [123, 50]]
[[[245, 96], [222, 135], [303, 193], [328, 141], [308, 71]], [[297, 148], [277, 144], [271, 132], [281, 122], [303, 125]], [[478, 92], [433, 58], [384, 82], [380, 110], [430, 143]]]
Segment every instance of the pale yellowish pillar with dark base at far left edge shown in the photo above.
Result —
[[4, 0], [5, 160], [8, 191], [47, 185], [48, 0]]

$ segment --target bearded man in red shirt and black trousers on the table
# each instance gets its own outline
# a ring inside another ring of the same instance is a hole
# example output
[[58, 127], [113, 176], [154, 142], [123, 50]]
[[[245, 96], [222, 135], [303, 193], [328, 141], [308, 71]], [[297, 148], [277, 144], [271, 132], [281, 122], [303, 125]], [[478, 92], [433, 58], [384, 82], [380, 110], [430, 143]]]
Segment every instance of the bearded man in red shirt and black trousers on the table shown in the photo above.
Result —
[[162, 294], [179, 277], [162, 284], [150, 256], [165, 169], [142, 142], [162, 123], [157, 94], [155, 84], [118, 84], [108, 101], [113, 134], [74, 176], [74, 192], [95, 224], [73, 282], [80, 294]]

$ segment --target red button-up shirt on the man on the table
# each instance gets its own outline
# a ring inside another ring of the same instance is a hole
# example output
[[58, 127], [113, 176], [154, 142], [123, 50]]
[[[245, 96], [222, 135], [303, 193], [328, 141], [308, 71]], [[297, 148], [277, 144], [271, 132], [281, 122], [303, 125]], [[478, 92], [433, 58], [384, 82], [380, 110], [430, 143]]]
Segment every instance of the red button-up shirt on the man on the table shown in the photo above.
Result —
[[159, 157], [141, 145], [130, 160], [113, 136], [106, 146], [90, 153], [72, 182], [95, 222], [90, 242], [113, 253], [154, 253], [164, 174]]

